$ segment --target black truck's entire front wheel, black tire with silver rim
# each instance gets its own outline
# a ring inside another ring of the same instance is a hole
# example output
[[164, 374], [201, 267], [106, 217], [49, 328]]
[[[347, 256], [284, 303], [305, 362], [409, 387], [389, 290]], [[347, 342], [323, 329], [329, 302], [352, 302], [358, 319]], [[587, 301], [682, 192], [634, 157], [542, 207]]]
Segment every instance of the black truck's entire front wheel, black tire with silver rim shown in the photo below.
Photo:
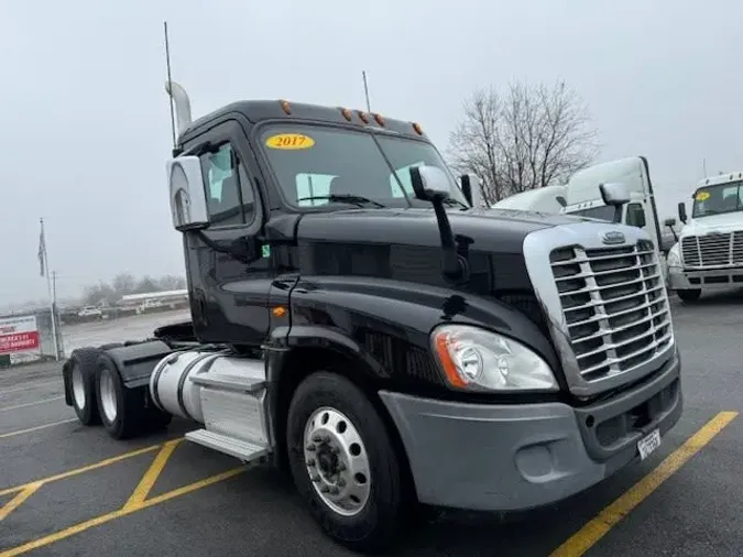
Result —
[[[310, 452], [306, 450], [305, 428], [309, 428], [313, 417], [316, 425], [321, 425], [325, 415], [330, 416], [330, 421], [310, 435], [316, 441], [319, 439], [317, 436], [324, 437], [324, 440], [310, 443], [315, 447]], [[338, 424], [341, 423], [346, 423], [346, 427], [339, 435], [337, 432], [341, 430], [341, 426]], [[310, 514], [329, 537], [357, 551], [379, 551], [394, 543], [404, 523], [406, 498], [402, 479], [405, 469], [384, 422], [359, 387], [341, 375], [325, 371], [305, 379], [292, 397], [286, 444], [294, 483], [308, 503]], [[334, 455], [328, 450], [332, 447], [339, 451], [335, 458], [346, 467], [339, 472], [343, 480], [338, 483], [326, 480], [332, 476], [328, 469], [339, 470], [338, 462], [332, 462]], [[356, 452], [360, 454], [353, 456]], [[312, 455], [315, 455], [314, 459], [309, 458]], [[351, 466], [350, 462], [357, 465]], [[357, 473], [351, 476], [353, 470]], [[350, 498], [345, 500], [350, 509], [339, 510], [337, 502], [329, 503], [327, 500], [332, 496], [331, 493], [320, 493], [320, 489], [338, 485], [341, 485], [340, 494], [337, 494], [339, 498], [349, 495], [349, 491], [357, 494], [356, 502]]]

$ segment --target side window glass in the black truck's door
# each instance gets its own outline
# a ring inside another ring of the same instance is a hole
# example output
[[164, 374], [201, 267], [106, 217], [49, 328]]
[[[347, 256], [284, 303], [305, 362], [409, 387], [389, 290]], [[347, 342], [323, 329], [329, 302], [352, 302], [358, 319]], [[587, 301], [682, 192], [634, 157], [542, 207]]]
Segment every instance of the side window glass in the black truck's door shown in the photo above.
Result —
[[201, 156], [209, 220], [216, 226], [250, 225], [255, 218], [253, 188], [232, 145]]

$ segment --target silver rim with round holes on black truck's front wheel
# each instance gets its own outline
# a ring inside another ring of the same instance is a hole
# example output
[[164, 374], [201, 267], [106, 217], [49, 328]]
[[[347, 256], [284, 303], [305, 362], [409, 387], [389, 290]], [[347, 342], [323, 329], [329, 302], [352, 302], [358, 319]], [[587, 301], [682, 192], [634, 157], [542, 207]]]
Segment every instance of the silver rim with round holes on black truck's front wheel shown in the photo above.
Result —
[[342, 516], [359, 514], [371, 493], [367, 447], [351, 421], [323, 407], [305, 425], [305, 465], [323, 502]]

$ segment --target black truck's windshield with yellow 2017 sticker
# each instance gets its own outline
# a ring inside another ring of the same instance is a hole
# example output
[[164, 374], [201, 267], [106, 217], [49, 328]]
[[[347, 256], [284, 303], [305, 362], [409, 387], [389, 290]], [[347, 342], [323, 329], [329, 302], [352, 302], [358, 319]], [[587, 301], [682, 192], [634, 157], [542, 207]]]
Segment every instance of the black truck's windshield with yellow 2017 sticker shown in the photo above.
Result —
[[422, 164], [441, 168], [451, 196], [467, 203], [441, 156], [423, 141], [287, 123], [264, 129], [261, 144], [285, 199], [294, 206], [321, 206], [334, 203], [323, 197], [352, 195], [370, 199], [370, 207], [429, 207], [415, 199], [411, 184], [409, 168]]

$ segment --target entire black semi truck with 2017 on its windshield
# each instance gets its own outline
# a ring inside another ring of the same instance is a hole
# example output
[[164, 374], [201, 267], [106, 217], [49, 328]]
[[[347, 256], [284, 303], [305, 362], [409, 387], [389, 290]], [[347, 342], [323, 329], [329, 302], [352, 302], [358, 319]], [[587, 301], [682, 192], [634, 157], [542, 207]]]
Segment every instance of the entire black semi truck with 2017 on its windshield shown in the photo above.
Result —
[[187, 439], [289, 471], [326, 534], [368, 550], [416, 505], [562, 500], [678, 421], [642, 230], [478, 208], [417, 123], [285, 100], [192, 121], [166, 89], [192, 321], [73, 352], [84, 424], [124, 438], [190, 419]]

